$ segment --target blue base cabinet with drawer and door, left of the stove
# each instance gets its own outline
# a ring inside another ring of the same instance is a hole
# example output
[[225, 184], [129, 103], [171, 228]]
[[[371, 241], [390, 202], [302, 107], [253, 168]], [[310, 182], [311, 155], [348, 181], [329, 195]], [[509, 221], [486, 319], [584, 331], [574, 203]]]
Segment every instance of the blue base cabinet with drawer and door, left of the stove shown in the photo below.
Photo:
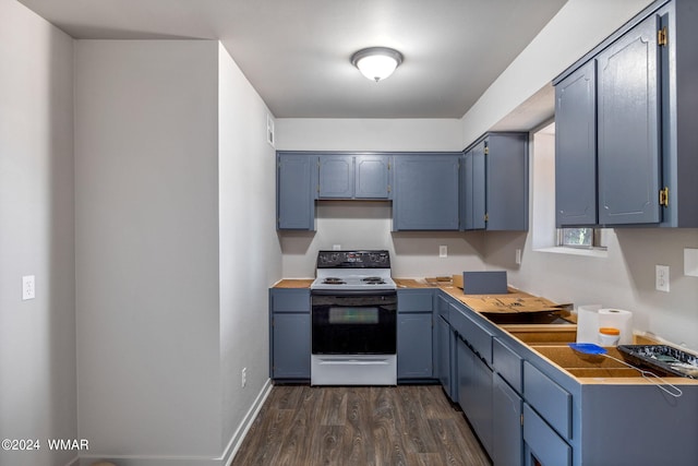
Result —
[[310, 380], [310, 289], [269, 290], [269, 378]]

